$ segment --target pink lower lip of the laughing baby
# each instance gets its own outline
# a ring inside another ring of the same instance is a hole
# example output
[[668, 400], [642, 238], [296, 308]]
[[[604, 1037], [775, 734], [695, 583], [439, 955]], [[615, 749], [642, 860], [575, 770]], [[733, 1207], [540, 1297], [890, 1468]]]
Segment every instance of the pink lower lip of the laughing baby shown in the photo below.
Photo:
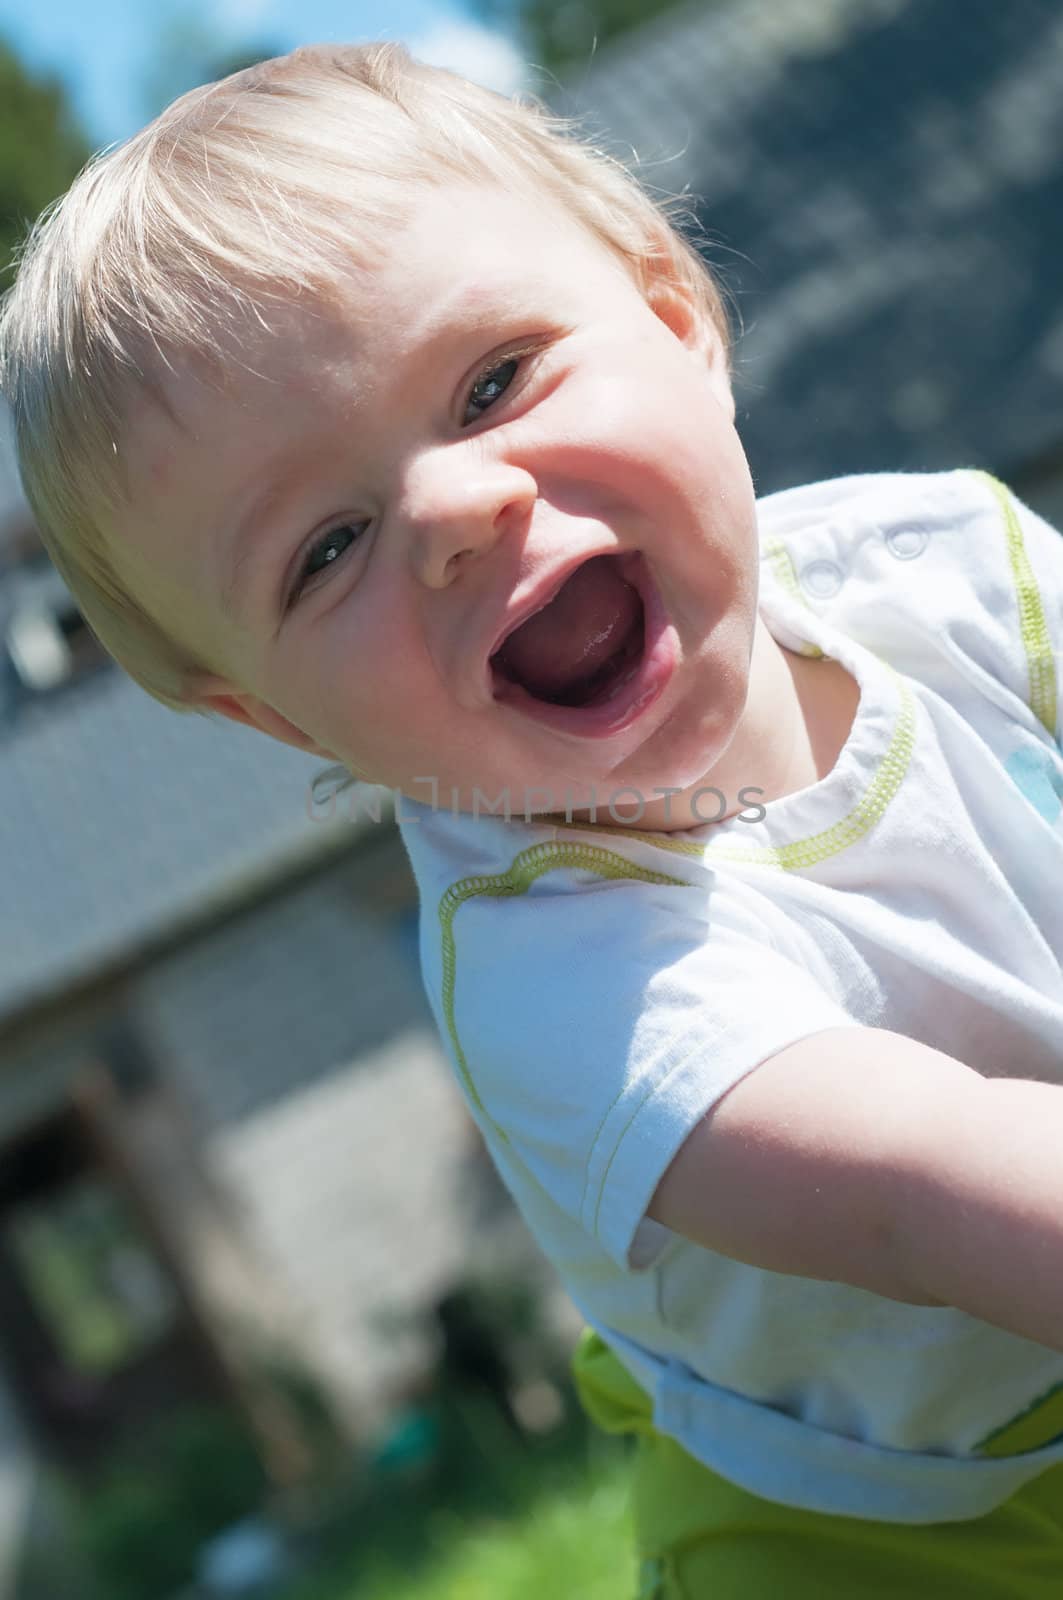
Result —
[[597, 706], [551, 706], [549, 701], [535, 699], [519, 683], [506, 683], [496, 691], [495, 698], [501, 706], [509, 706], [556, 733], [578, 739], [612, 739], [631, 728], [661, 698], [676, 670], [676, 632], [642, 557], [623, 557], [621, 570], [624, 581], [642, 600], [642, 656], [632, 675]]

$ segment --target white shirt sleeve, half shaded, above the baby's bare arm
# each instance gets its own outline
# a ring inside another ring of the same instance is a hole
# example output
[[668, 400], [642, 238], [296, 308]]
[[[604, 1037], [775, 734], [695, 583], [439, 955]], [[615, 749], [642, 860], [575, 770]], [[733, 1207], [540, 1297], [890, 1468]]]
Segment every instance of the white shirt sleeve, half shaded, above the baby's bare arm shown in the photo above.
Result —
[[741, 883], [583, 878], [461, 907], [445, 1037], [501, 1165], [639, 1269], [671, 1237], [645, 1211], [696, 1123], [768, 1056], [855, 1022]]

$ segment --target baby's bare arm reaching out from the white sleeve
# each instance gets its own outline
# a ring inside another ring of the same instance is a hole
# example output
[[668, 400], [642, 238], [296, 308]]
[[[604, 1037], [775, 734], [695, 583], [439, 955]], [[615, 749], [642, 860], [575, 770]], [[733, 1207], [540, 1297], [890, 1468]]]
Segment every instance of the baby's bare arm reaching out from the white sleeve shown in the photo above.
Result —
[[1063, 1350], [1063, 1088], [839, 1027], [741, 1078], [648, 1214], [720, 1254]]

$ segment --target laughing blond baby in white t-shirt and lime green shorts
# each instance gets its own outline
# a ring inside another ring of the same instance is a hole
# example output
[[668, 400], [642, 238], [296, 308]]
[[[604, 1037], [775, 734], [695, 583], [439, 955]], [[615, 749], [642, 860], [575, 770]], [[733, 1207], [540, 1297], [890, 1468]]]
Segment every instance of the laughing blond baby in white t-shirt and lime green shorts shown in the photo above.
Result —
[[125, 670], [402, 797], [642, 1592], [1058, 1594], [1058, 536], [965, 470], [757, 502], [666, 214], [395, 46], [91, 163], [0, 379]]

